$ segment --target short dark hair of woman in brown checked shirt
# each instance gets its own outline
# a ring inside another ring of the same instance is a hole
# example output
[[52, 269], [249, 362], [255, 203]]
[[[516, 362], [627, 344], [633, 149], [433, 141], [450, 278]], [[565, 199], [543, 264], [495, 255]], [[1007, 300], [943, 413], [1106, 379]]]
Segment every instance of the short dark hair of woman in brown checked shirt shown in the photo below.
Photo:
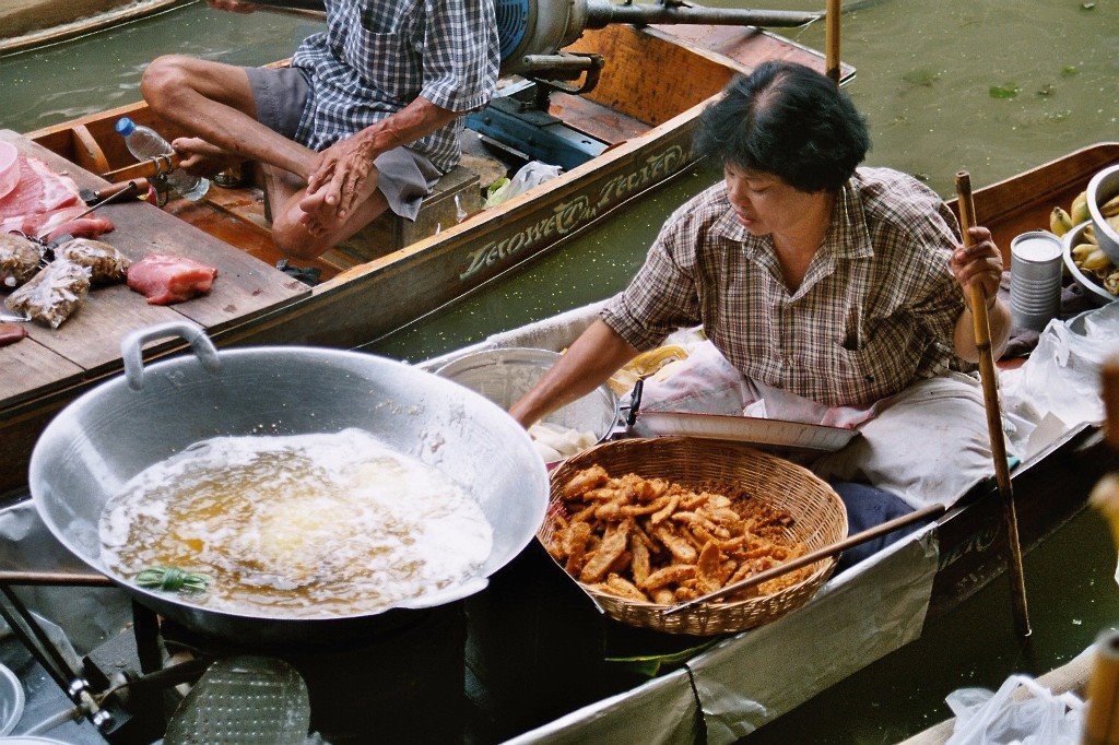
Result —
[[702, 155], [772, 173], [800, 191], [836, 191], [871, 147], [847, 94], [816, 70], [770, 60], [739, 77], [699, 120]]

